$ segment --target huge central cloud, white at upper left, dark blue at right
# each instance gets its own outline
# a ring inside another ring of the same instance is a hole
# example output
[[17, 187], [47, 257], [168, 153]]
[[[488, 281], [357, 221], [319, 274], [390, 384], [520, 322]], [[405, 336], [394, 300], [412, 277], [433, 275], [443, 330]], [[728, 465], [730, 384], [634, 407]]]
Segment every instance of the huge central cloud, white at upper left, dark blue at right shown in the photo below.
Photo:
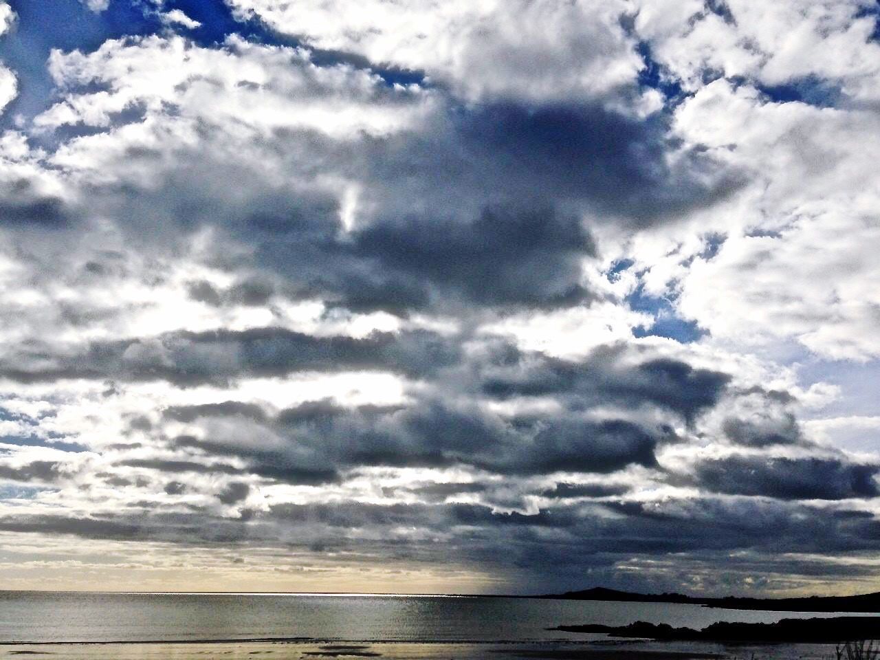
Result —
[[[157, 58], [173, 77], [150, 73]], [[242, 254], [255, 251], [290, 289], [355, 310], [405, 313], [443, 297], [539, 305], [589, 299], [580, 262], [596, 246], [577, 217], [584, 209], [653, 224], [742, 185], [741, 172], [698, 150], [668, 158], [660, 118], [639, 121], [590, 101], [471, 108], [441, 90], [388, 87], [369, 70], [320, 67], [305, 51], [235, 38], [223, 49], [177, 37], [107, 42], [88, 55], [55, 52], [50, 68], [70, 93], [35, 122], [109, 129], [66, 144], [53, 159], [93, 183], [110, 183], [112, 171], [114, 186], [139, 189], [122, 197], [107, 191], [108, 212], [131, 217], [129, 231], [169, 204], [167, 215], [180, 218], [185, 205], [187, 224], [169, 231], [225, 229]], [[112, 92], [83, 91], [90, 84]], [[216, 107], [208, 99], [223, 99], [223, 116], [208, 111]], [[257, 105], [260, 114], [251, 113]], [[135, 109], [138, 120], [146, 113], [150, 121], [122, 119]], [[203, 128], [211, 125], [228, 129], [208, 142]], [[279, 148], [260, 150], [267, 141]], [[175, 158], [162, 155], [170, 150]], [[234, 163], [230, 152], [239, 154]], [[324, 164], [319, 180], [304, 165], [316, 160]], [[217, 185], [218, 172], [266, 185], [232, 193]], [[273, 185], [281, 172], [301, 183]], [[409, 199], [419, 206], [407, 208]], [[441, 235], [445, 242], [429, 243]], [[539, 277], [526, 277], [536, 268]], [[204, 285], [201, 291], [210, 295]]]

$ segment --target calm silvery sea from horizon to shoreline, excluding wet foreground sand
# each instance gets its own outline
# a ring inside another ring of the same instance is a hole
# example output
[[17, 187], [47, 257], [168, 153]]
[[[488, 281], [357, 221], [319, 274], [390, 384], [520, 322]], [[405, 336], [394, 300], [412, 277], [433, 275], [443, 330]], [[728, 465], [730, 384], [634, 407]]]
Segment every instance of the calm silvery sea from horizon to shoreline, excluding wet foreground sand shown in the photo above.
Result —
[[0, 642], [540, 642], [583, 640], [546, 630], [560, 624], [645, 620], [700, 628], [718, 620], [841, 615], [526, 598], [0, 591]]

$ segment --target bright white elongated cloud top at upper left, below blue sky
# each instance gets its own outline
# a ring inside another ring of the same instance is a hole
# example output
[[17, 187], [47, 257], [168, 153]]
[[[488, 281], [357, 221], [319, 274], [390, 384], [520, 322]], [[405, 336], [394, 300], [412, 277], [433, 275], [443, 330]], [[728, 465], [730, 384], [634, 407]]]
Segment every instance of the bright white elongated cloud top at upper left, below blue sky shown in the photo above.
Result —
[[282, 128], [315, 128], [336, 137], [387, 135], [419, 116], [418, 92], [388, 92], [376, 103], [378, 80], [348, 66], [318, 67], [309, 54], [262, 47], [231, 37], [223, 49], [198, 48], [180, 37], [108, 41], [90, 54], [53, 51], [49, 71], [62, 87], [101, 82], [109, 92], [70, 93], [34, 124], [108, 126], [114, 114], [143, 107], [180, 121], [223, 122], [253, 136]]

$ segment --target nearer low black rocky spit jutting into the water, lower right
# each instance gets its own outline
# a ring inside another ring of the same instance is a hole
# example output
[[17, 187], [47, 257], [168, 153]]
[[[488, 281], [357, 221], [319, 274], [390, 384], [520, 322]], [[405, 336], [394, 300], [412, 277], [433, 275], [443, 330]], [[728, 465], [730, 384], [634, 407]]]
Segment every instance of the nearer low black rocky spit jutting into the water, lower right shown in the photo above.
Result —
[[713, 623], [702, 630], [636, 621], [628, 626], [558, 626], [567, 633], [605, 633], [663, 642], [812, 642], [836, 644], [880, 637], [880, 618], [783, 619], [776, 623]]

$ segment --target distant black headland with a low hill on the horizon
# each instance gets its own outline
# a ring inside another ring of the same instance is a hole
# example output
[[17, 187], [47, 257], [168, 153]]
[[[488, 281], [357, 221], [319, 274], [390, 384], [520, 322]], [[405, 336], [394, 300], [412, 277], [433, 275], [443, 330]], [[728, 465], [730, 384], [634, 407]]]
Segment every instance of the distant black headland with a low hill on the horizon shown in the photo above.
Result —
[[639, 603], [685, 603], [724, 607], [730, 610], [775, 610], [778, 612], [880, 612], [880, 592], [859, 596], [810, 596], [809, 598], [700, 598], [680, 593], [642, 594], [597, 587], [539, 598], [564, 600], [611, 600]]

